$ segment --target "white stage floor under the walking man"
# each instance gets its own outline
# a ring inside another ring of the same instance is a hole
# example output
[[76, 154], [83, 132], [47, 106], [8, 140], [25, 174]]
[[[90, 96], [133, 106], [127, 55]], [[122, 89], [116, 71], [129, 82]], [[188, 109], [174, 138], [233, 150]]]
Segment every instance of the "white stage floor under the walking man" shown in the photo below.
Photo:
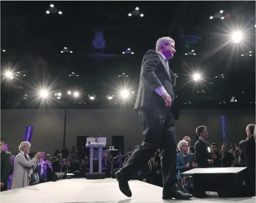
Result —
[[138, 180], [129, 181], [133, 196], [120, 192], [116, 179], [69, 179], [47, 182], [0, 193], [1, 203], [255, 203], [255, 197], [211, 197], [192, 200], [162, 200], [162, 188]]

